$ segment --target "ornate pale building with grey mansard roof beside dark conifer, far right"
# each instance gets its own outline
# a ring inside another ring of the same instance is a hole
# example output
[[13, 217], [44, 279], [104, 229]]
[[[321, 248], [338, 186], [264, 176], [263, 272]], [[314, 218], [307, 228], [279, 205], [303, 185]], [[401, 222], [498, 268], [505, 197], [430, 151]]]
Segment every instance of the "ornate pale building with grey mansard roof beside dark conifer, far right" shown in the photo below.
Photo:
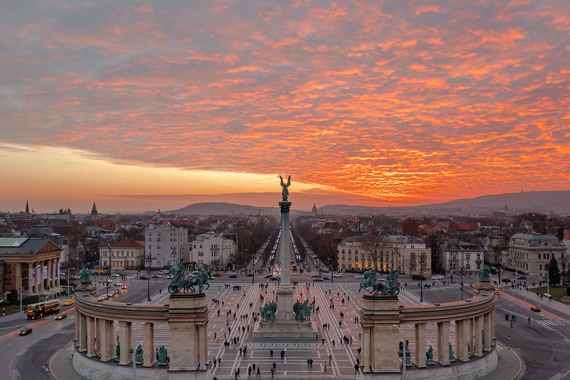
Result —
[[508, 244], [507, 265], [531, 276], [546, 276], [550, 259], [555, 257], [561, 269], [565, 255], [566, 246], [554, 235], [515, 234]]

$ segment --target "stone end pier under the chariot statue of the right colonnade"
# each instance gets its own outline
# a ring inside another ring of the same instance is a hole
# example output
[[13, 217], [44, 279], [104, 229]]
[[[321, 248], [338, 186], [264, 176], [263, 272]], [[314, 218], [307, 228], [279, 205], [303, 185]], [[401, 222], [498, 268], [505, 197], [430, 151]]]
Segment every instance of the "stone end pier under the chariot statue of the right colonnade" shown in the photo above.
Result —
[[363, 327], [362, 364], [364, 374], [399, 373], [398, 343], [400, 309], [397, 296], [363, 296], [360, 314]]

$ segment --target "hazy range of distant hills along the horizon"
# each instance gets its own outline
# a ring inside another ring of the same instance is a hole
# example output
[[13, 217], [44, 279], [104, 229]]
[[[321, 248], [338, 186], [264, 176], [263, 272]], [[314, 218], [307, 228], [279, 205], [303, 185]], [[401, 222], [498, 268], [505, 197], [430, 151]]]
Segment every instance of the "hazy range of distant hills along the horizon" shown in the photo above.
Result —
[[[507, 206], [507, 209], [505, 209]], [[278, 207], [256, 207], [249, 205], [237, 205], [227, 202], [194, 203], [182, 207], [182, 209], [166, 211], [180, 215], [231, 215], [231, 214], [257, 214], [258, 209], [263, 209], [262, 214], [279, 214]], [[526, 212], [543, 214], [570, 214], [570, 190], [555, 191], [528, 191], [526, 193], [503, 193], [495, 195], [483, 195], [476, 198], [455, 199], [453, 201], [434, 203], [421, 206], [353, 206], [353, 205], [325, 205], [318, 207], [321, 214], [333, 215], [365, 215], [365, 214], [389, 214], [389, 215], [422, 215], [422, 214], [462, 214], [471, 215], [491, 214], [504, 211], [508, 215]], [[291, 210], [293, 211], [293, 210]], [[307, 210], [308, 211], [308, 210]], [[307, 213], [307, 211], [299, 213]]]

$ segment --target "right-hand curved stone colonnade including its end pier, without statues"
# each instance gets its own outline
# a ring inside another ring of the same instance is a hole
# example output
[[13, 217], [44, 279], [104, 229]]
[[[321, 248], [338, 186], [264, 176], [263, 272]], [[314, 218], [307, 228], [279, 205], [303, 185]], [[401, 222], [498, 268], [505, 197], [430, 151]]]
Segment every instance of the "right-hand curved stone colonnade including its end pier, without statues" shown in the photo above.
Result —
[[[406, 335], [406, 340], [414, 340], [413, 364], [417, 368], [434, 363], [449, 366], [452, 361], [468, 362], [472, 360], [471, 356], [484, 356], [484, 352], [491, 352], [494, 347], [495, 300], [493, 294], [448, 304], [398, 306], [396, 297], [382, 299], [365, 295], [361, 314], [363, 373], [400, 372], [398, 328], [404, 325], [414, 326], [414, 333]], [[450, 335], [453, 337], [451, 322], [455, 325], [454, 341], [450, 339]], [[431, 363], [426, 356], [430, 346], [426, 340], [426, 327], [430, 323], [437, 325], [437, 343], [433, 346], [435, 352]]]

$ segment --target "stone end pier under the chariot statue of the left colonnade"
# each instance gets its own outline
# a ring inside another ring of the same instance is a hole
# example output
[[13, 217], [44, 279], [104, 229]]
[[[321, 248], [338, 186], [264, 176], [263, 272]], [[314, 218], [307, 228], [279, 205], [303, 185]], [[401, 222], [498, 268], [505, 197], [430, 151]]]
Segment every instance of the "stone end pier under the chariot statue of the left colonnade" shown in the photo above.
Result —
[[177, 293], [170, 296], [169, 378], [206, 378], [207, 307], [204, 293]]

